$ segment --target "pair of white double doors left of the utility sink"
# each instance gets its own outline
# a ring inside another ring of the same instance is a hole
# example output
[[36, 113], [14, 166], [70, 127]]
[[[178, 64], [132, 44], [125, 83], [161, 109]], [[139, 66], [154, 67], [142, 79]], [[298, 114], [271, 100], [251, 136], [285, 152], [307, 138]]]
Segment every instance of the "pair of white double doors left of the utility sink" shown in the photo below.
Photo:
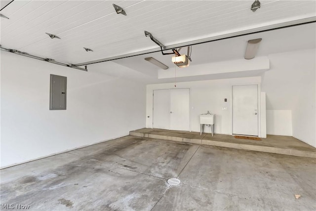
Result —
[[153, 127], [190, 130], [190, 89], [154, 90]]

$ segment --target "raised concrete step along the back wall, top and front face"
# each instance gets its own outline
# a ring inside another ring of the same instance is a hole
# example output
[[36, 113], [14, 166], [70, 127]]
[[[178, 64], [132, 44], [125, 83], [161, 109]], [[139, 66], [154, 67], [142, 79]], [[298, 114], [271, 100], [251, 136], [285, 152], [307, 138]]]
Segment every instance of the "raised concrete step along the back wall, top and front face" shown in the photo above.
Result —
[[237, 139], [233, 135], [142, 128], [129, 132], [132, 136], [187, 142], [242, 150], [316, 158], [316, 148], [292, 136], [268, 135], [261, 141]]

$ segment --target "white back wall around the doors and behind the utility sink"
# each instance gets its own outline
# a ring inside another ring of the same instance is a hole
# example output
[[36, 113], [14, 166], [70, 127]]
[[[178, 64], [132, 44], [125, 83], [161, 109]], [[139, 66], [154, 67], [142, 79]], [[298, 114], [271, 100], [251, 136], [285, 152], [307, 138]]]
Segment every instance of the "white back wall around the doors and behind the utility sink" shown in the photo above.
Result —
[[[230, 134], [232, 130], [231, 118], [231, 85], [233, 84], [258, 84], [260, 77], [223, 79], [198, 82], [177, 83], [177, 88], [191, 89], [191, 130], [199, 132], [199, 116], [210, 111], [215, 114], [215, 133]], [[146, 127], [152, 127], [153, 117], [153, 90], [175, 88], [174, 83], [149, 84], [147, 85], [147, 118]], [[227, 98], [227, 102], [224, 99]], [[227, 107], [227, 110], [222, 110]], [[210, 132], [209, 127], [205, 127], [205, 132]]]

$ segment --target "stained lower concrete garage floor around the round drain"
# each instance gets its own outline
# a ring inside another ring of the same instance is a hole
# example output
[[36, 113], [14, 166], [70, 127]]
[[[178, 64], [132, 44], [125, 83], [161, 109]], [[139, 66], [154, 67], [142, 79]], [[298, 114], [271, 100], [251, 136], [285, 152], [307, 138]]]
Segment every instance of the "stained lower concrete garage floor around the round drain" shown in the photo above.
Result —
[[316, 210], [315, 158], [135, 136], [2, 169], [0, 182], [1, 204], [30, 210]]

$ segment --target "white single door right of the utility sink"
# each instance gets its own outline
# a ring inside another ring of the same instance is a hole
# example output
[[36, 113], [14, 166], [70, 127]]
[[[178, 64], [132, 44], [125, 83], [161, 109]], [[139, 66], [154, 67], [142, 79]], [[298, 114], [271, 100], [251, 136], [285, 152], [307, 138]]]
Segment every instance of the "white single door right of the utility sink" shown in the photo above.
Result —
[[233, 134], [258, 136], [258, 85], [233, 86]]

